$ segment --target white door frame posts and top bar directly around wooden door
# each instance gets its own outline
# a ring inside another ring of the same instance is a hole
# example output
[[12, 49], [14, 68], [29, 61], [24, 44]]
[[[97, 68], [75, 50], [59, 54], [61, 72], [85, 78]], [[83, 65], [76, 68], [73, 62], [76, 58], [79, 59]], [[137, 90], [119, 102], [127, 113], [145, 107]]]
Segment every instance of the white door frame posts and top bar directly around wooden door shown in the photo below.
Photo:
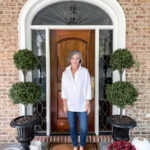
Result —
[[[79, 27], [79, 26], [74, 26], [73, 28], [72, 27], [68, 27], [68, 26], [64, 26], [64, 27], [50, 27], [48, 28], [47, 30], [49, 31], [47, 34], [46, 34], [46, 48], [48, 48], [46, 50], [46, 56], [48, 56], [47, 58], [47, 61], [49, 61], [47, 63], [46, 61], [46, 76], [47, 76], [47, 81], [46, 83], [49, 83], [49, 85], [47, 84], [47, 98], [50, 99], [51, 95], [50, 95], [50, 85], [51, 85], [51, 82], [50, 82], [50, 46], [48, 46], [47, 44], [50, 45], [50, 43], [48, 41], [50, 41], [49, 37], [50, 37], [50, 31], [51, 30], [95, 30], [95, 134], [98, 135], [99, 134], [99, 55], [96, 55], [96, 54], [99, 54], [99, 27]], [[108, 28], [107, 28], [108, 29]], [[110, 28], [111, 29], [111, 28]], [[47, 37], [48, 36], [48, 37]], [[114, 43], [113, 43], [114, 44]], [[49, 82], [48, 82], [49, 81]], [[48, 101], [47, 101], [48, 102]], [[47, 110], [49, 113], [49, 118], [50, 118], [50, 101], [48, 102], [49, 103], [49, 110]], [[47, 103], [47, 104], [48, 104]], [[47, 118], [48, 119], [48, 118]], [[51, 121], [52, 120], [49, 120], [49, 124], [51, 124]], [[49, 126], [50, 127], [50, 126]], [[51, 132], [51, 128], [49, 128], [49, 131]]]

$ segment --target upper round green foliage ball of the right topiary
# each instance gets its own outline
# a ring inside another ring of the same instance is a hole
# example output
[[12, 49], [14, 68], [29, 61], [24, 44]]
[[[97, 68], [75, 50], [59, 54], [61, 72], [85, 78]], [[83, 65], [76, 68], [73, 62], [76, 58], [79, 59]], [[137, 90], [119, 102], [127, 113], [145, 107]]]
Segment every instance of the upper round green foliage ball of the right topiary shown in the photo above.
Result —
[[130, 51], [127, 49], [117, 49], [110, 56], [110, 67], [113, 71], [130, 69], [134, 65], [134, 59]]

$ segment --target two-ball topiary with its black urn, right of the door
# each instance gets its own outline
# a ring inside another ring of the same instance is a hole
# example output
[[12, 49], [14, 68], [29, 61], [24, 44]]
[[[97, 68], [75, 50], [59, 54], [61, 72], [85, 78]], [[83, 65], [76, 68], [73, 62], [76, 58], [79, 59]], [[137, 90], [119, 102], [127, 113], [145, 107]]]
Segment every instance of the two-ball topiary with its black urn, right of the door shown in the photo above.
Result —
[[112, 71], [118, 70], [120, 81], [106, 87], [106, 98], [120, 108], [120, 115], [112, 115], [107, 122], [113, 127], [114, 140], [129, 140], [129, 129], [136, 126], [136, 121], [128, 116], [123, 116], [122, 111], [126, 105], [133, 105], [138, 96], [133, 84], [122, 80], [125, 69], [134, 65], [133, 56], [127, 49], [117, 49], [111, 56], [109, 65]]

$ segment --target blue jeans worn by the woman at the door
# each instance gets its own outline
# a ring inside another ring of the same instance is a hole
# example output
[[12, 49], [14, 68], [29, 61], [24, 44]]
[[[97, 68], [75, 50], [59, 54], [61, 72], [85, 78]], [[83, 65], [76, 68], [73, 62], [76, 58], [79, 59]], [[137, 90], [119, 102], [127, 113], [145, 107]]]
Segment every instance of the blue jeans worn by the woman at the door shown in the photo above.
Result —
[[[84, 147], [86, 144], [86, 137], [88, 132], [88, 115], [87, 112], [78, 112], [80, 121], [80, 146]], [[71, 139], [74, 147], [78, 146], [77, 135], [77, 112], [68, 111], [68, 121], [70, 127]]]

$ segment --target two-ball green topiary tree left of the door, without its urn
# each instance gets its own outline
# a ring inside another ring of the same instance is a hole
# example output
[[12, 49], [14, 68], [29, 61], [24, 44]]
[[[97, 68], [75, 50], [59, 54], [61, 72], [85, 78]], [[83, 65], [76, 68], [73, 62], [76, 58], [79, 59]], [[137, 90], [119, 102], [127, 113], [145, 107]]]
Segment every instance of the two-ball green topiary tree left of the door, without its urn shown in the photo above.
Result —
[[27, 105], [34, 104], [41, 96], [40, 87], [33, 82], [26, 82], [27, 72], [34, 70], [38, 65], [37, 57], [28, 49], [19, 50], [14, 54], [14, 63], [17, 69], [23, 72], [24, 81], [12, 85], [9, 90], [9, 97], [14, 104], [23, 104], [25, 106], [25, 117], [27, 116]]

